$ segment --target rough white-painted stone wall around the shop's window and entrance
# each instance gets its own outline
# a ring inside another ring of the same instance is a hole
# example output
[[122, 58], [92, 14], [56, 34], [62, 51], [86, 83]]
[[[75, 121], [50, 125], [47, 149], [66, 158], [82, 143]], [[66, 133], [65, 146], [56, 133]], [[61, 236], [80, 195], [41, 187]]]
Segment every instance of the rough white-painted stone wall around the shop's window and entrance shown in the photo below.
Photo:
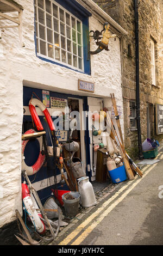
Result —
[[[21, 132], [23, 85], [61, 93], [110, 96], [115, 93], [122, 106], [120, 40], [110, 39], [109, 52], [91, 56], [91, 76], [81, 74], [36, 57], [34, 42], [34, 4], [17, 0], [23, 10], [23, 42], [17, 28], [5, 29], [0, 39], [0, 227], [15, 220], [15, 209], [22, 212]], [[103, 29], [90, 17], [90, 30]], [[97, 46], [91, 39], [91, 50]], [[78, 79], [95, 82], [95, 93], [78, 91]], [[121, 118], [123, 124], [123, 117]]]

